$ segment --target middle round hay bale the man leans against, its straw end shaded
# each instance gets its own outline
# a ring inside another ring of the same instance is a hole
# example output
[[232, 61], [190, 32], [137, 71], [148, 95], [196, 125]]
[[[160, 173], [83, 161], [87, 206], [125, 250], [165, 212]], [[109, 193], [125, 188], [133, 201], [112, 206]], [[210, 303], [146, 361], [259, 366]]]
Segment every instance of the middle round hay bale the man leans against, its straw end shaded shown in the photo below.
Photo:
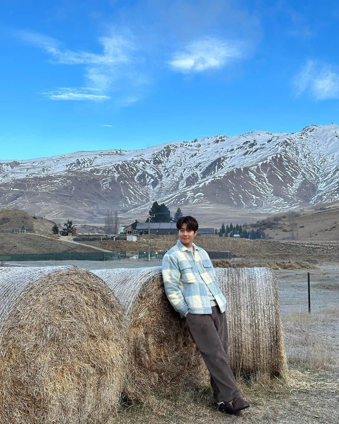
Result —
[[164, 292], [161, 268], [92, 271], [103, 279], [125, 309], [131, 363], [124, 393], [145, 400], [151, 393], [179, 393], [207, 382], [205, 364]]

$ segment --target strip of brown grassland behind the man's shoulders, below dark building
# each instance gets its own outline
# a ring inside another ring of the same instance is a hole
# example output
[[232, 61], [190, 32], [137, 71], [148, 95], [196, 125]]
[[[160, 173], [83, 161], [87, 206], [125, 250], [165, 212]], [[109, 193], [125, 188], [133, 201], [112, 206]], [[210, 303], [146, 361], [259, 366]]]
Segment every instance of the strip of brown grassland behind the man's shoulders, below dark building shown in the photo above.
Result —
[[[178, 237], [151, 236], [151, 250], [170, 249], [177, 243]], [[292, 260], [339, 260], [339, 242], [294, 242], [281, 240], [248, 240], [230, 237], [199, 236], [196, 244], [206, 250], [231, 251], [233, 256], [258, 259], [292, 259]], [[101, 247], [111, 251], [142, 251], [148, 249], [147, 237], [131, 241], [93, 241], [81, 244]]]

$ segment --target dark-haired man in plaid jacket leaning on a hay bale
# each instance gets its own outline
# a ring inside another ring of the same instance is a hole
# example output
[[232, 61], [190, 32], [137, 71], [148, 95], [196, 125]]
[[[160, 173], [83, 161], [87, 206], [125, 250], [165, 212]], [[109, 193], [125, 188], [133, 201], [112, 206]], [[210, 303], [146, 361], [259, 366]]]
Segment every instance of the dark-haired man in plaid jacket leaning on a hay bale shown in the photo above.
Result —
[[211, 374], [214, 406], [221, 412], [241, 414], [250, 404], [242, 398], [229, 365], [225, 309], [217, 276], [206, 251], [193, 243], [198, 223], [192, 216], [177, 221], [178, 243], [162, 260], [168, 300], [185, 317], [186, 326]]

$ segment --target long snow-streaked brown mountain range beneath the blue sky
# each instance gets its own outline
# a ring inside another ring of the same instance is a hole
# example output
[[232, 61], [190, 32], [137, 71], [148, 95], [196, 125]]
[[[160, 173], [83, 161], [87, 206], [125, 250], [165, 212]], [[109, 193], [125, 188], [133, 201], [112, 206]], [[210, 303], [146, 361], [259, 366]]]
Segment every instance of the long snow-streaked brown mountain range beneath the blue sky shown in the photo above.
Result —
[[0, 206], [88, 219], [108, 208], [144, 212], [154, 200], [172, 209], [206, 204], [277, 212], [338, 200], [338, 159], [339, 126], [331, 124], [3, 160]]

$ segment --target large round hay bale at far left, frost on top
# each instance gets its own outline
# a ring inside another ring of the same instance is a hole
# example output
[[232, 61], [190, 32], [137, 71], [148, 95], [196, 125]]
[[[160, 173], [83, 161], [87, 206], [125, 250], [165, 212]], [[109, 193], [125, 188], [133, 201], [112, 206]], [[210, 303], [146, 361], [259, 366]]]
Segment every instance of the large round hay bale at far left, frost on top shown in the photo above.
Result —
[[119, 301], [74, 267], [0, 268], [0, 422], [102, 424], [126, 349]]

